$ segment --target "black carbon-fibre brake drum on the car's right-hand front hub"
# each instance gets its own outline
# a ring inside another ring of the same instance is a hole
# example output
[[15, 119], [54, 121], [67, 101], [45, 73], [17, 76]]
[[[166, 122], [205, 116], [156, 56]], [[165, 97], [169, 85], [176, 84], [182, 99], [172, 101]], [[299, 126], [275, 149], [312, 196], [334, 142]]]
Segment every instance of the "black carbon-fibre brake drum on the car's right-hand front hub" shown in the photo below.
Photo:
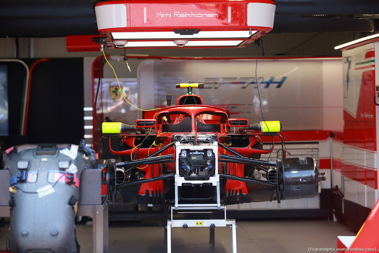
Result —
[[326, 180], [319, 173], [312, 157], [277, 160], [277, 197], [284, 199], [313, 198], [318, 194], [318, 182]]

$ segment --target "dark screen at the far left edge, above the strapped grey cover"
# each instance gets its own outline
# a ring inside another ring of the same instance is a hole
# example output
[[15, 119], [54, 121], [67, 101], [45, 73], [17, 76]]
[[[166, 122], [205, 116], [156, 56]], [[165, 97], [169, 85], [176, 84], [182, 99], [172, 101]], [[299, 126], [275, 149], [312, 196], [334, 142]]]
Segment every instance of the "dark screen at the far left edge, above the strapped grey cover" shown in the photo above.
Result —
[[0, 65], [0, 135], [8, 135], [8, 78], [7, 66]]

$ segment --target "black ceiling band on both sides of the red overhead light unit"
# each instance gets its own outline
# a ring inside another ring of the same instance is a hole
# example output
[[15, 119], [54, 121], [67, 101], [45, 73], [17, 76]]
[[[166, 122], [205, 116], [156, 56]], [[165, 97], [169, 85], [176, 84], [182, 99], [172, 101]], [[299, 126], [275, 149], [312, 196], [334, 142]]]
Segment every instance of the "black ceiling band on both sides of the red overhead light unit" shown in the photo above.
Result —
[[[99, 0], [0, 0], [0, 36], [60, 37], [98, 34], [93, 6]], [[141, 1], [143, 2], [143, 1]], [[276, 0], [274, 29], [287, 32], [373, 32], [379, 19], [354, 14], [379, 14], [377, 0]], [[302, 18], [302, 15], [340, 15]]]

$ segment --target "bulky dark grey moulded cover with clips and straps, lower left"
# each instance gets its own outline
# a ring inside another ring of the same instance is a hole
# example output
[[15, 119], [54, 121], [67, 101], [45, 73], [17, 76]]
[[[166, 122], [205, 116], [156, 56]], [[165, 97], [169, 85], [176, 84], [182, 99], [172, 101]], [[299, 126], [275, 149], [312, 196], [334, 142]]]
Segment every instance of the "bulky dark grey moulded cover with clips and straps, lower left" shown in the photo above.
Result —
[[95, 155], [73, 144], [19, 145], [4, 152], [11, 174], [9, 243], [13, 253], [74, 253], [80, 175]]

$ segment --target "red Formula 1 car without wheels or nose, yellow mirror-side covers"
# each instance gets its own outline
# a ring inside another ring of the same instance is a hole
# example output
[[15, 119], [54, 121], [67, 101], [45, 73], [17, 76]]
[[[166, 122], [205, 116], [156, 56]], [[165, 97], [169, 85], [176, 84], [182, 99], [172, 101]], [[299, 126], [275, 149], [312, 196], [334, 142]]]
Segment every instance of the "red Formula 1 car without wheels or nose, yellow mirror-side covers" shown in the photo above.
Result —
[[[159, 109], [153, 119], [138, 119], [134, 126], [102, 123], [103, 160], [97, 163], [107, 165], [103, 184], [110, 201], [168, 205], [188, 212], [317, 196], [318, 182], [326, 180], [326, 174], [318, 173], [312, 157], [287, 158], [283, 138], [282, 158], [259, 160], [274, 149], [272, 143], [271, 149], [263, 150], [260, 136], [280, 136], [279, 121], [249, 125], [247, 119], [230, 119], [225, 109], [206, 106], [193, 94], [192, 88], [203, 86], [177, 84], [188, 89], [177, 105]], [[230, 133], [231, 128], [238, 133]], [[112, 148], [113, 139], [119, 141], [119, 150]], [[104, 160], [106, 153], [118, 159]], [[263, 179], [255, 179], [254, 171]]]

